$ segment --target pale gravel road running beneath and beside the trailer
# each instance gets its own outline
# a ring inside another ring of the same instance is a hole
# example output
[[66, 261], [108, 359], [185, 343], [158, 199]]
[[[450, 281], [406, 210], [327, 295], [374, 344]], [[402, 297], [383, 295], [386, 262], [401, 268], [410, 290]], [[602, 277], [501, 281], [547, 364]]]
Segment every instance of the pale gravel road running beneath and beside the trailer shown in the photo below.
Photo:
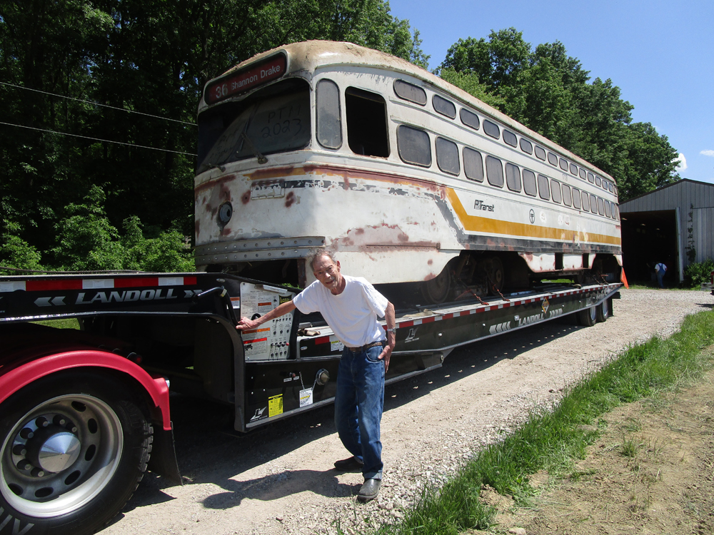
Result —
[[708, 292], [623, 290], [614, 316], [594, 327], [568, 318], [454, 350], [439, 370], [386, 389], [385, 473], [378, 499], [358, 504], [361, 474], [323, 407], [241, 436], [229, 407], [172, 398], [183, 486], [146, 474], [122, 514], [102, 531], [124, 534], [333, 534], [393, 521], [425, 484], [448, 477], [474, 449], [508, 432], [535, 403], [618, 350], [670, 335], [685, 315], [712, 310]]

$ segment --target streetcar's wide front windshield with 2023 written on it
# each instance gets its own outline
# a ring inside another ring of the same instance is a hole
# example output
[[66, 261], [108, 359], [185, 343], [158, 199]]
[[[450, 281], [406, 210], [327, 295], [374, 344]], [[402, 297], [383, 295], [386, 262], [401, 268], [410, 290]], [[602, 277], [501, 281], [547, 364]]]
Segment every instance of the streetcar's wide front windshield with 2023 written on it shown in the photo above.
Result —
[[198, 116], [197, 173], [226, 163], [297, 151], [310, 143], [310, 88], [297, 79], [274, 83], [243, 101]]

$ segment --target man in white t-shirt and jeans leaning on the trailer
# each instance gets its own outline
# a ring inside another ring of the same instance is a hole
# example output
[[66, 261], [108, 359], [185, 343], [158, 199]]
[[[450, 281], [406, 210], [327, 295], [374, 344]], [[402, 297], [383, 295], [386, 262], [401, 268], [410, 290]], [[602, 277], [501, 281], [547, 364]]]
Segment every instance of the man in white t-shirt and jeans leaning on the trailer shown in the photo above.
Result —
[[[321, 312], [336, 337], [345, 345], [337, 372], [335, 424], [342, 444], [353, 457], [335, 463], [342, 471], [361, 469], [364, 484], [360, 501], [376, 498], [382, 480], [382, 443], [379, 424], [384, 405], [384, 374], [395, 345], [394, 307], [361, 277], [342, 275], [330, 253], [317, 253], [310, 262], [317, 279], [292, 301], [284, 302], [256, 320], [241, 317], [239, 330], [282, 316], [296, 308]], [[384, 317], [387, 340], [377, 321]]]

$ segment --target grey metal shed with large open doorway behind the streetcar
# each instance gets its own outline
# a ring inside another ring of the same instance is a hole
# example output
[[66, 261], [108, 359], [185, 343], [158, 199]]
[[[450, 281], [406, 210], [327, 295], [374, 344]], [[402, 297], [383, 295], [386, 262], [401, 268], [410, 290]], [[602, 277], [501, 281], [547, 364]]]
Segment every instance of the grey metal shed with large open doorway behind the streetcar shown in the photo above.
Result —
[[714, 258], [714, 184], [680, 180], [620, 205], [628, 280], [650, 280], [663, 262], [670, 284], [691, 262]]

